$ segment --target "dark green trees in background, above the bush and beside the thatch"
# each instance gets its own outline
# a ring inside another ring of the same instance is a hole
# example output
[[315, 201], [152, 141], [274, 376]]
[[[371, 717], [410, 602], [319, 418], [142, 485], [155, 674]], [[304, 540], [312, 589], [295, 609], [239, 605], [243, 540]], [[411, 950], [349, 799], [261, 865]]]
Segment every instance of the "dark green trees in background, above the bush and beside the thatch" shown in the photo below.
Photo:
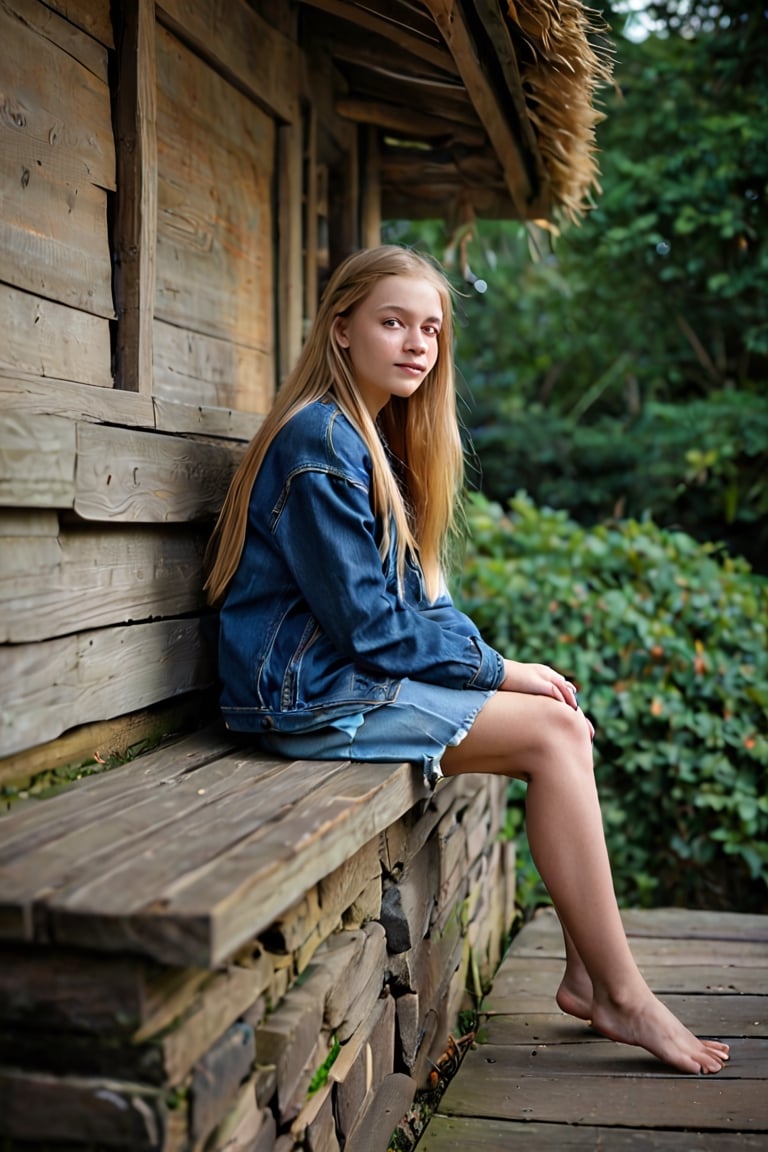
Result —
[[607, 15], [617, 88], [583, 223], [387, 235], [453, 270], [478, 487], [585, 523], [651, 511], [766, 563], [768, 20], [659, 0], [636, 43]]

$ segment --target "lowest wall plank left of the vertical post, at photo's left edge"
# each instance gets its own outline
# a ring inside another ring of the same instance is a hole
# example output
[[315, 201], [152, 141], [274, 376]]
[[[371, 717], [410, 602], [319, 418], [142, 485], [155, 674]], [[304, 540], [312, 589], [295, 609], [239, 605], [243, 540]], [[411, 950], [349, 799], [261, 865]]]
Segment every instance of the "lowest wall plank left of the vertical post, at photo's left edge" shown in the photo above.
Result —
[[6, 376], [112, 387], [109, 325], [104, 317], [0, 283], [0, 371]]

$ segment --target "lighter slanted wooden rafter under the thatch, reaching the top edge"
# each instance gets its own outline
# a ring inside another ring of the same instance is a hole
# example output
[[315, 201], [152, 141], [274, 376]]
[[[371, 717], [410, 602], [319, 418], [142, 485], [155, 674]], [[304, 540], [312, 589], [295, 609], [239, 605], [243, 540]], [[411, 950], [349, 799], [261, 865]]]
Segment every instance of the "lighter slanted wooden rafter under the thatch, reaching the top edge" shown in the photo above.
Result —
[[499, 103], [482, 68], [478, 50], [457, 0], [424, 0], [456, 61], [472, 104], [499, 157], [515, 210], [522, 220], [542, 215], [542, 206], [532, 203], [533, 190], [522, 159], [520, 143]]

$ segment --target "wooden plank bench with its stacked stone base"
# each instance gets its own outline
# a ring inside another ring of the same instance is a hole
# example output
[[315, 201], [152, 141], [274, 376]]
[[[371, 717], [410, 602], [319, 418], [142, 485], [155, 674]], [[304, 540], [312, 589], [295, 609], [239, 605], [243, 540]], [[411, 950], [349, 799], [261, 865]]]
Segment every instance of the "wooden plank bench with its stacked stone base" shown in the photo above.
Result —
[[503, 796], [210, 729], [0, 818], [3, 1150], [385, 1152], [499, 962]]

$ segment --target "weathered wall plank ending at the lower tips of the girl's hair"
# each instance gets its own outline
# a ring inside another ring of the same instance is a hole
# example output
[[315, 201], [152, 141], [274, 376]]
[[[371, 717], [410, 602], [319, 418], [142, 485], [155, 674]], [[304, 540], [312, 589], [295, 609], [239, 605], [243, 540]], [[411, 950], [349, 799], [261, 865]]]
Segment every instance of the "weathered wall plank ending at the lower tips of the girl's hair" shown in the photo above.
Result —
[[0, 517], [0, 642], [200, 611], [206, 535], [184, 525], [6, 536]]

